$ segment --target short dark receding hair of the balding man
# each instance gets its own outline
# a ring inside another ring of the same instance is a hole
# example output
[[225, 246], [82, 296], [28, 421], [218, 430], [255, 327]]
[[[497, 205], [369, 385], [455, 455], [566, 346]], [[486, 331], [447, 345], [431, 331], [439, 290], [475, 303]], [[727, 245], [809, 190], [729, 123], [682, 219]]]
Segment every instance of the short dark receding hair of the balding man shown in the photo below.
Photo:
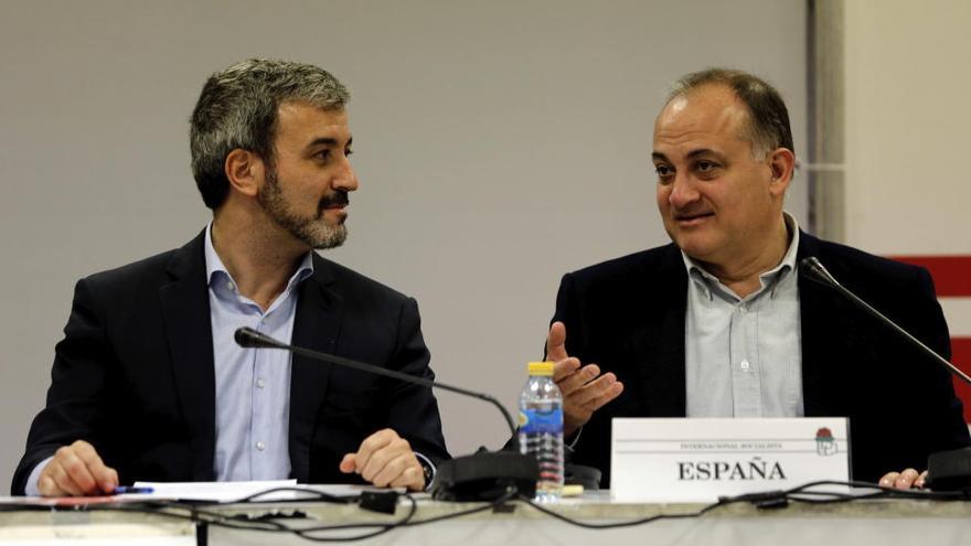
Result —
[[693, 72], [674, 84], [668, 101], [706, 85], [725, 85], [745, 103], [748, 108], [748, 127], [744, 136], [751, 142], [751, 153], [756, 159], [765, 159], [776, 148], [788, 148], [796, 152], [792, 129], [789, 127], [789, 110], [786, 109], [782, 96], [775, 87], [746, 72], [726, 68]]

